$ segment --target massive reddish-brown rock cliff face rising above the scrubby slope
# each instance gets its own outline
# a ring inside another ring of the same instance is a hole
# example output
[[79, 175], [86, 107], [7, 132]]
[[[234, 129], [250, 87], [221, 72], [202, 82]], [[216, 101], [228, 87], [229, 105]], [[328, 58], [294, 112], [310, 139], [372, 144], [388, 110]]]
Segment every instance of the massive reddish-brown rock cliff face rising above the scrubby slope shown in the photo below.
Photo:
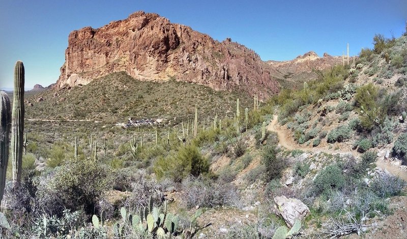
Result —
[[215, 41], [157, 14], [136, 12], [99, 29], [69, 35], [57, 89], [85, 85], [97, 77], [126, 71], [142, 81], [177, 80], [215, 90], [243, 90], [260, 97], [278, 92], [276, 70], [245, 46]]

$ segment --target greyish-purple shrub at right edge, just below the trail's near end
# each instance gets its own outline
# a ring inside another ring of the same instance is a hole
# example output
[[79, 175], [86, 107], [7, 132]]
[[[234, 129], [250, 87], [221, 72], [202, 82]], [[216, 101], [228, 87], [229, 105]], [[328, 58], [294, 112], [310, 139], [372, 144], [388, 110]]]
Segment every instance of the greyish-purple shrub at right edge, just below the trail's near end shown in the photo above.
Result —
[[387, 198], [402, 195], [405, 185], [399, 177], [384, 173], [375, 177], [370, 187], [378, 196]]

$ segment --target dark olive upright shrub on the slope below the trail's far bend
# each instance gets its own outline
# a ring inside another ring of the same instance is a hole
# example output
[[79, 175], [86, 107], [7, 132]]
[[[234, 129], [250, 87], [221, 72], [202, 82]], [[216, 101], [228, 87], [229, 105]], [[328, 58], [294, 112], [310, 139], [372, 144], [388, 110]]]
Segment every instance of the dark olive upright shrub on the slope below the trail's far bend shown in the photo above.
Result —
[[274, 147], [265, 147], [261, 164], [265, 167], [265, 181], [280, 178], [282, 171], [287, 165], [285, 158], [277, 157]]

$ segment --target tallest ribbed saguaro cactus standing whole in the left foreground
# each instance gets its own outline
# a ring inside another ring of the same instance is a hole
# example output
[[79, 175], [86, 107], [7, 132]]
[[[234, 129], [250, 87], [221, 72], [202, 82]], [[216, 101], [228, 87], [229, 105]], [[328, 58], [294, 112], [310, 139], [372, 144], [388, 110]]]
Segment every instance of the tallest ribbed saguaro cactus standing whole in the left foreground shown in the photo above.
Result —
[[13, 182], [21, 181], [21, 164], [24, 135], [24, 65], [16, 62], [14, 68], [13, 115], [11, 122], [11, 151], [13, 159]]

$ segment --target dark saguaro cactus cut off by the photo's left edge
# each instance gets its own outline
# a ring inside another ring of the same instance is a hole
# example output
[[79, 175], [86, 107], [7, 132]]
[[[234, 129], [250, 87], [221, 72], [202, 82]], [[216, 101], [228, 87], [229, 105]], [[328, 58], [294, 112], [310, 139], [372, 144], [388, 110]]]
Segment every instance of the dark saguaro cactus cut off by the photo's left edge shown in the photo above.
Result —
[[7, 164], [9, 161], [9, 136], [11, 126], [10, 99], [0, 91], [0, 203], [6, 185]]

